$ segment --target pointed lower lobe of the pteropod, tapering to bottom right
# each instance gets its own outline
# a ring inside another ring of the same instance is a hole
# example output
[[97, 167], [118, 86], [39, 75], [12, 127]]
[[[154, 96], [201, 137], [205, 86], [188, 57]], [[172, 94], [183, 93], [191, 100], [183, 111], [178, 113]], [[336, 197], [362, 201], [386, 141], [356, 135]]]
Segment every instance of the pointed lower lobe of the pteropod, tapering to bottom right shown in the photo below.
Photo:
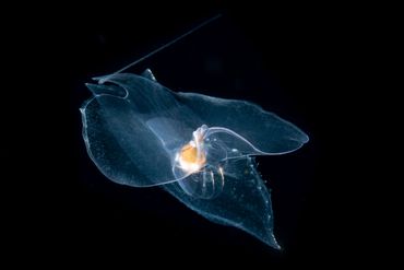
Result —
[[178, 183], [162, 187], [204, 218], [241, 228], [280, 249], [273, 234], [271, 196], [257, 172], [253, 157], [229, 162], [231, 164], [227, 166], [228, 172], [225, 172], [223, 190], [212, 199], [190, 196]]

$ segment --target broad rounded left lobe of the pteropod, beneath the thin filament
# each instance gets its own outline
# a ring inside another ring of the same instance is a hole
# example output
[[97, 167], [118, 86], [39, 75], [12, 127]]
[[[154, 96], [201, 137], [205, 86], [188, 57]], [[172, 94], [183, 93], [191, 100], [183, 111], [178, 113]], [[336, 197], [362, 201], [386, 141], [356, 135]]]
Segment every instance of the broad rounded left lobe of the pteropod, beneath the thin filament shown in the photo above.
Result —
[[[148, 79], [116, 74], [107, 82], [116, 85], [87, 84], [94, 97], [82, 107], [83, 136], [94, 163], [119, 184], [154, 186], [176, 180], [171, 156], [150, 120], [166, 119], [159, 128], [176, 132], [171, 138], [177, 142], [190, 140], [201, 120], [173, 92]], [[176, 120], [175, 127], [170, 119]]]

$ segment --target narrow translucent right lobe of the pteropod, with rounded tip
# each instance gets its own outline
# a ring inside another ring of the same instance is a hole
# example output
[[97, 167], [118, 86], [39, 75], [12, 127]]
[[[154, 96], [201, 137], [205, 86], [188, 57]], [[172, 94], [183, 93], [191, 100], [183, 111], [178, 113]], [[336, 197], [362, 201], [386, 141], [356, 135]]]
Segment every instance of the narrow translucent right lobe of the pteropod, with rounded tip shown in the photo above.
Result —
[[[197, 93], [178, 93], [210, 127], [225, 127], [242, 136], [265, 154], [284, 154], [308, 142], [308, 136], [289, 121], [245, 101], [223, 99]], [[209, 108], [209, 109], [206, 109]]]

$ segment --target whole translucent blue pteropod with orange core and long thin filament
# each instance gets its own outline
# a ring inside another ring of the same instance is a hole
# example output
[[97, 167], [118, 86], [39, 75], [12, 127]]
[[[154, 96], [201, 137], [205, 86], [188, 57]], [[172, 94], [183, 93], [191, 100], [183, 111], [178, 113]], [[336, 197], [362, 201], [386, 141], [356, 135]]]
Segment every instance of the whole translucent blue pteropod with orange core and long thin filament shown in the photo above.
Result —
[[308, 136], [256, 104], [177, 93], [148, 69], [122, 70], [86, 84], [93, 96], [81, 108], [83, 138], [98, 169], [121, 185], [159, 186], [210, 221], [280, 248], [254, 156], [290, 153]]

